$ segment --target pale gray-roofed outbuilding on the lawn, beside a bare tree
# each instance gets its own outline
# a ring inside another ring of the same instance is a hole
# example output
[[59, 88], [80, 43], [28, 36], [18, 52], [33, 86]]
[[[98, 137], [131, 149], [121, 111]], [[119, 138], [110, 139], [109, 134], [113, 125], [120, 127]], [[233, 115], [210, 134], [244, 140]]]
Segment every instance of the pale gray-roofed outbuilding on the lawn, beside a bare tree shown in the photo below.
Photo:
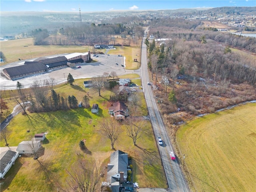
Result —
[[19, 154], [32, 154], [32, 148], [35, 151], [38, 151], [41, 147], [41, 141], [22, 141], [18, 145], [16, 151], [19, 152]]

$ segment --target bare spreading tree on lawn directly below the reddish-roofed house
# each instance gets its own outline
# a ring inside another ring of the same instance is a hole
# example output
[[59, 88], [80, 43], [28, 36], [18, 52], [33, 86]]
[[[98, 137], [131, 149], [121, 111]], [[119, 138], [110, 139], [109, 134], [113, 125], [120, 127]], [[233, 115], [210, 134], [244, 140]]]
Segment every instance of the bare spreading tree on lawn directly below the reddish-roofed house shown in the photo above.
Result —
[[114, 144], [120, 134], [118, 123], [114, 119], [104, 119], [99, 122], [100, 132], [111, 141], [111, 149], [114, 150]]

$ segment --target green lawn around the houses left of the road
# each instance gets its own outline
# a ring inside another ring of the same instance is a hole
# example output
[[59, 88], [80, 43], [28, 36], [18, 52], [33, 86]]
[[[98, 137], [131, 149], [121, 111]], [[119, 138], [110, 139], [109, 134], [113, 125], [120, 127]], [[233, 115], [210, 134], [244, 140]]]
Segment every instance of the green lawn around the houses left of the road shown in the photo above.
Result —
[[[137, 74], [126, 75], [127, 78], [137, 78]], [[110, 140], [98, 132], [98, 121], [110, 118], [108, 102], [112, 92], [102, 91], [102, 97], [92, 89], [84, 88], [84, 79], [75, 80], [74, 86], [58, 85], [54, 90], [62, 96], [72, 94], [78, 101], [82, 96], [89, 94], [90, 106], [99, 104], [99, 114], [92, 114], [90, 109], [78, 108], [67, 111], [29, 113], [28, 116], [18, 114], [8, 125], [12, 135], [8, 140], [10, 146], [18, 146], [22, 140], [30, 140], [35, 133], [48, 132], [47, 140], [42, 144], [44, 155], [38, 160], [22, 156], [18, 158], [1, 180], [1, 191], [51, 192], [57, 188], [65, 187], [66, 170], [69, 170], [77, 159], [77, 154], [93, 158], [102, 167], [109, 163], [113, 152]], [[139, 93], [140, 112], [138, 116], [147, 115], [146, 102], [143, 93]], [[127, 152], [132, 157], [133, 181], [140, 187], [166, 188], [166, 181], [162, 179], [164, 170], [158, 154], [154, 134], [149, 121], [142, 120], [144, 133], [138, 140], [138, 146], [133, 146], [132, 140], [126, 136], [124, 127], [120, 125], [122, 134], [115, 143], [115, 148]], [[28, 133], [27, 130], [30, 130]], [[79, 141], [86, 139], [87, 154], [79, 148]], [[4, 146], [1, 140], [0, 146]]]

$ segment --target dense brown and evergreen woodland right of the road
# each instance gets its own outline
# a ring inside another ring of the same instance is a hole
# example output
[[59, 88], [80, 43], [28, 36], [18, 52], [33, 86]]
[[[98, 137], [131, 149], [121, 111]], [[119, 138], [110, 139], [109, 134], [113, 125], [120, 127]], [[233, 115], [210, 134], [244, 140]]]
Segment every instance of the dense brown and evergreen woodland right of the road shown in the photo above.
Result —
[[[177, 108], [203, 114], [256, 99], [255, 38], [204, 30], [200, 21], [185, 20], [158, 20], [150, 34], [172, 39], [146, 40], [163, 114]], [[162, 76], [170, 79], [172, 91], [167, 92]]]

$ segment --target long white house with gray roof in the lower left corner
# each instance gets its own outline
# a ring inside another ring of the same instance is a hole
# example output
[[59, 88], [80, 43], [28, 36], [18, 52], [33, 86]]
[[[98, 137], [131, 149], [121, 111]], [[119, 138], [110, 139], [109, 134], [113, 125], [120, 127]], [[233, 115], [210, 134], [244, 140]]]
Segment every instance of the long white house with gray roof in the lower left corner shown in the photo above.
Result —
[[0, 178], [4, 178], [4, 175], [8, 172], [15, 160], [18, 158], [19, 153], [12, 150], [6, 150], [0, 154]]

